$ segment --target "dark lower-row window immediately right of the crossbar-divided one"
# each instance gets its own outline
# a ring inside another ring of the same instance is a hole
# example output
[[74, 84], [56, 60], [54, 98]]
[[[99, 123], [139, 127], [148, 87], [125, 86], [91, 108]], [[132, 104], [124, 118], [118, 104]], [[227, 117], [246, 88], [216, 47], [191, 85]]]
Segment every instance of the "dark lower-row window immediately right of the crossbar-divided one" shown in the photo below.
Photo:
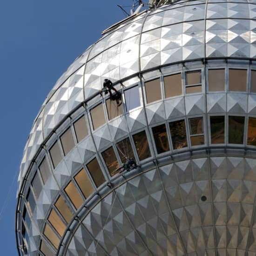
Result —
[[219, 144], [225, 142], [225, 116], [210, 116], [211, 143]]

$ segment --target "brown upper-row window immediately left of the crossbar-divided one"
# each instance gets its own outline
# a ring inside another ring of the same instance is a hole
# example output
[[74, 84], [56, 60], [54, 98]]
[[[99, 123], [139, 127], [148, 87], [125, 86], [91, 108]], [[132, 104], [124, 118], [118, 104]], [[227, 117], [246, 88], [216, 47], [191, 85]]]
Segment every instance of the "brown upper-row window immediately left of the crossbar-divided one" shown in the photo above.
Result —
[[165, 98], [178, 96], [182, 94], [182, 76], [181, 74], [172, 74], [165, 76], [164, 81], [164, 92]]

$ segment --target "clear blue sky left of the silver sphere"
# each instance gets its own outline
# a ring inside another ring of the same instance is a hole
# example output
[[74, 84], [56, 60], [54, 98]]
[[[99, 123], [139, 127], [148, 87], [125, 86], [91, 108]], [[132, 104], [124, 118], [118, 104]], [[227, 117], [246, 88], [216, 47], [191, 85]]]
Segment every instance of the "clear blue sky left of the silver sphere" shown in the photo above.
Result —
[[[98, 2], [98, 3], [97, 3]], [[17, 172], [32, 122], [55, 81], [132, 0], [0, 1], [0, 255], [17, 255]], [[13, 185], [13, 179], [15, 179]]]

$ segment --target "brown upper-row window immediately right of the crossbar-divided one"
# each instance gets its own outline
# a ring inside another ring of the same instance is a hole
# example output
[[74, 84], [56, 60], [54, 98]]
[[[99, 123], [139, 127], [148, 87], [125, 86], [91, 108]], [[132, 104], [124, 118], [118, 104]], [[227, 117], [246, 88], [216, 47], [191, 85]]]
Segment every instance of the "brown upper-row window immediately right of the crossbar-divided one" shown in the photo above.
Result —
[[209, 92], [225, 90], [225, 69], [208, 70]]

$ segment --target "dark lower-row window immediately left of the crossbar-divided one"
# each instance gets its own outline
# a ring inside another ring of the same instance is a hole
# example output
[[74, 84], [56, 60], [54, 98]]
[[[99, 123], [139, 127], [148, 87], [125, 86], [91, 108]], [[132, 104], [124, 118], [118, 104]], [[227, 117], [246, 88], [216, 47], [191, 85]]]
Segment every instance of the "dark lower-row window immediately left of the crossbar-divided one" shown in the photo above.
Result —
[[188, 146], [186, 125], [184, 120], [169, 123], [172, 144], [174, 149], [186, 148]]

